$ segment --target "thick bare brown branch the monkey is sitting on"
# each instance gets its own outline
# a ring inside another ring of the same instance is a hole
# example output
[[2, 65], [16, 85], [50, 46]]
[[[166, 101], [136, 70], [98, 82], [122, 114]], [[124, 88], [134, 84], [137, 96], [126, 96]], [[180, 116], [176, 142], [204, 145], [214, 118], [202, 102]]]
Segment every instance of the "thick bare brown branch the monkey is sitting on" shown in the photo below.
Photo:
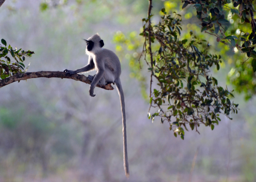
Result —
[[[10, 83], [17, 82], [20, 80], [26, 80], [26, 79], [30, 79], [30, 78], [41, 78], [41, 77], [61, 78], [61, 79], [69, 78], [69, 79], [74, 79], [74, 80], [81, 81], [81, 82], [88, 83], [88, 84], [91, 83], [91, 81], [85, 75], [79, 75], [79, 74], [67, 75], [63, 71], [38, 71], [38, 72], [20, 73], [20, 74], [16, 74], [14, 76], [2, 79], [2, 80], [0, 80], [0, 88], [5, 85], [8, 85]], [[104, 86], [102, 86], [102, 85], [96, 85], [96, 86], [100, 87], [102, 89], [106, 89], [106, 90], [114, 90], [114, 87], [111, 85], [111, 83], [104, 85]]]

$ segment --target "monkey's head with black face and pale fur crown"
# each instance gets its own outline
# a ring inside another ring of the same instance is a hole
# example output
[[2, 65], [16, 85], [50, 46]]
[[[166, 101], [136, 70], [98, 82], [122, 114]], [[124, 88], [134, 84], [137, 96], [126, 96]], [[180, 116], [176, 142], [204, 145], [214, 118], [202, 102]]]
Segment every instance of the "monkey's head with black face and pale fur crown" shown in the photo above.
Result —
[[103, 40], [101, 40], [98, 33], [89, 37], [85, 41], [86, 41], [86, 52], [89, 51], [89, 52], [95, 53], [98, 50], [100, 50], [100, 48], [102, 48], [104, 45], [104, 42], [103, 42]]

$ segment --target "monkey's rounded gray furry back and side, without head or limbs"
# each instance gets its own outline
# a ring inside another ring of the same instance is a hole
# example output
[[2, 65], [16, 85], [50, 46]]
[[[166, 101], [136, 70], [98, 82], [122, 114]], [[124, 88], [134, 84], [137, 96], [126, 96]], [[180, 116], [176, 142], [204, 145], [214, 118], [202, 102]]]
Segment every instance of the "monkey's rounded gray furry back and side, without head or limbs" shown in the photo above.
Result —
[[96, 71], [98, 66], [104, 66], [105, 72], [103, 77], [106, 82], [114, 83], [121, 75], [121, 64], [117, 55], [109, 49], [102, 48], [95, 56], [96, 59], [100, 59], [104, 63], [104, 65], [96, 65]]

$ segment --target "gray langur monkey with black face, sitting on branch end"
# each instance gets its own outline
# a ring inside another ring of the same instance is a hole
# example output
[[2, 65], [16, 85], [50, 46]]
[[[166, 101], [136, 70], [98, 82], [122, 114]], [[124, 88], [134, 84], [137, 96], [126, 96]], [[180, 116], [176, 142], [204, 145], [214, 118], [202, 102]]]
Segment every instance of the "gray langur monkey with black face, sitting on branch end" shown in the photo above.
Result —
[[[85, 40], [85, 39], [84, 39]], [[102, 48], [104, 45], [99, 34], [95, 34], [86, 41], [86, 54], [89, 56], [88, 64], [77, 70], [64, 70], [66, 74], [76, 74], [95, 69], [96, 75], [91, 76], [92, 83], [90, 84], [89, 93], [94, 97], [94, 88], [97, 84], [106, 85], [107, 83], [115, 83], [120, 96], [122, 121], [123, 121], [123, 162], [126, 177], [129, 177], [129, 166], [127, 156], [127, 139], [126, 139], [126, 117], [124, 109], [124, 94], [121, 85], [121, 65], [116, 54], [108, 49]]]

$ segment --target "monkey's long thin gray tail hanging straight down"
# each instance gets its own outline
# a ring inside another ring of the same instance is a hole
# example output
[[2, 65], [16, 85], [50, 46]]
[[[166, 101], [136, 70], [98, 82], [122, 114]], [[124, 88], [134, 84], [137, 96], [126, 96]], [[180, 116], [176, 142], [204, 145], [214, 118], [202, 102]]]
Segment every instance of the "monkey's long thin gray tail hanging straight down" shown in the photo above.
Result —
[[129, 165], [128, 165], [128, 155], [127, 155], [127, 137], [126, 137], [126, 117], [125, 117], [125, 108], [124, 108], [124, 94], [122, 89], [122, 84], [120, 78], [115, 80], [117, 91], [119, 93], [121, 110], [122, 110], [122, 120], [123, 120], [123, 166], [125, 175], [129, 178]]

